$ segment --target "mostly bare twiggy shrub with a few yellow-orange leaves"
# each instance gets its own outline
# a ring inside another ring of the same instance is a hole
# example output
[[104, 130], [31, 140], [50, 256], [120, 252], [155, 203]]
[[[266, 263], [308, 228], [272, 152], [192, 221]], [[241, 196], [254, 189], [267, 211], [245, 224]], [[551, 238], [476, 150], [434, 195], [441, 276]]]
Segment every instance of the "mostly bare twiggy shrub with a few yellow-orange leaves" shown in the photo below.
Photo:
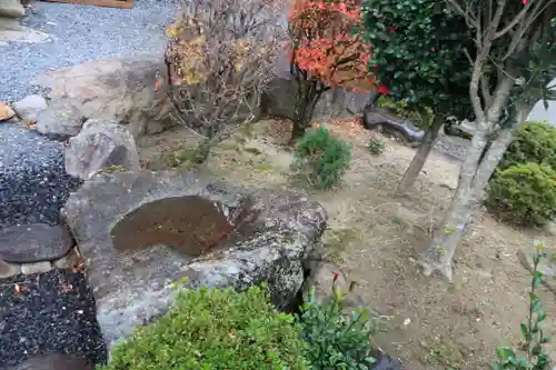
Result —
[[167, 32], [180, 123], [214, 141], [252, 120], [284, 50], [284, 11], [274, 0], [187, 2]]

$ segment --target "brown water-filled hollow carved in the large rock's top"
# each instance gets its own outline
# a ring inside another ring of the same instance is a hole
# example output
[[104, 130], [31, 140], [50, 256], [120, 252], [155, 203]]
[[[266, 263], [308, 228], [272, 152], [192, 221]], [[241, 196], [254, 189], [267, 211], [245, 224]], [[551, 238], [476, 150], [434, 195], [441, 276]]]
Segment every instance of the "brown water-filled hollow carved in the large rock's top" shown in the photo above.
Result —
[[120, 251], [163, 244], [199, 257], [234, 234], [249, 214], [248, 203], [242, 200], [238, 209], [231, 210], [199, 196], [156, 200], [120, 220], [112, 229], [112, 242]]

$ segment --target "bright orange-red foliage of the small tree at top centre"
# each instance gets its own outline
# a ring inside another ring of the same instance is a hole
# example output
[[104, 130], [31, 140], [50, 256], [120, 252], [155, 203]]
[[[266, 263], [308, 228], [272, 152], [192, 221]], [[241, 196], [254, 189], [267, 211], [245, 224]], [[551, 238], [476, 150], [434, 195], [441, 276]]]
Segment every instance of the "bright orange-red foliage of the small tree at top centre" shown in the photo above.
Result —
[[332, 88], [373, 88], [370, 47], [355, 31], [361, 23], [360, 12], [353, 0], [296, 0], [289, 16], [296, 66]]

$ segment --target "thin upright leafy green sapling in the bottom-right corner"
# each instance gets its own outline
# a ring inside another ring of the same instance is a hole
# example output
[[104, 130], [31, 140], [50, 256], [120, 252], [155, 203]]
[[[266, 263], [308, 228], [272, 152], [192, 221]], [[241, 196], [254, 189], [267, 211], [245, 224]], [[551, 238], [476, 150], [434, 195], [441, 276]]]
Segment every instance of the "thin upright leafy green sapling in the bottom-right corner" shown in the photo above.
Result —
[[509, 347], [498, 347], [497, 361], [493, 363], [493, 370], [546, 370], [549, 369], [548, 354], [544, 344], [550, 341], [545, 337], [540, 323], [546, 320], [546, 312], [543, 303], [535, 293], [536, 289], [543, 286], [543, 273], [538, 271], [538, 264], [547, 254], [543, 252], [543, 244], [535, 242], [536, 251], [533, 257], [532, 282], [529, 287], [529, 314], [525, 322], [522, 322], [520, 331], [523, 346], [520, 348], [525, 357], [518, 358], [516, 351]]

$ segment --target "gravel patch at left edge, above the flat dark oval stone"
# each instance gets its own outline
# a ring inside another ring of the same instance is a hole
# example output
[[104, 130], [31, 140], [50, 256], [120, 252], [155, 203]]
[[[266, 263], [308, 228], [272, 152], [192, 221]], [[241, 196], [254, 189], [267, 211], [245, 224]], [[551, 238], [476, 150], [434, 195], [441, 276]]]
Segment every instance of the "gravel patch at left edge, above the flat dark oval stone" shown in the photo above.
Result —
[[59, 211], [81, 181], [66, 174], [63, 142], [19, 123], [0, 122], [0, 228], [59, 223]]

